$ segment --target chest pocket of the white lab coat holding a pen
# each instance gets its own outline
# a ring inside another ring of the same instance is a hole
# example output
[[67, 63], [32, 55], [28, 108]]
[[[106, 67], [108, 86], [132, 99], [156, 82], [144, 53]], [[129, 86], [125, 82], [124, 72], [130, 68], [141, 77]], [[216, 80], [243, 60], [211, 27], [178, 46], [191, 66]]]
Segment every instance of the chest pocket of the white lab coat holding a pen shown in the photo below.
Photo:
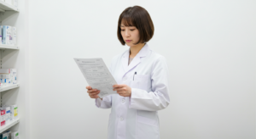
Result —
[[149, 75], [134, 75], [132, 87], [148, 91]]

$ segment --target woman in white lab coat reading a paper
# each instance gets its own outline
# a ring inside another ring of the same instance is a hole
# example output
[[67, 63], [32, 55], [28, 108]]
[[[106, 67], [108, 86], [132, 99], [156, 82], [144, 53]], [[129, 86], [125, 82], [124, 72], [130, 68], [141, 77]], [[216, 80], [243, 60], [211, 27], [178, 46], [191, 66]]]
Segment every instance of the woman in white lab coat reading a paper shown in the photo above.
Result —
[[118, 94], [98, 97], [86, 86], [98, 108], [111, 108], [108, 139], [159, 139], [158, 110], [170, 103], [166, 59], [148, 47], [154, 25], [147, 10], [129, 7], [119, 16], [118, 38], [130, 48], [115, 56], [109, 68]]

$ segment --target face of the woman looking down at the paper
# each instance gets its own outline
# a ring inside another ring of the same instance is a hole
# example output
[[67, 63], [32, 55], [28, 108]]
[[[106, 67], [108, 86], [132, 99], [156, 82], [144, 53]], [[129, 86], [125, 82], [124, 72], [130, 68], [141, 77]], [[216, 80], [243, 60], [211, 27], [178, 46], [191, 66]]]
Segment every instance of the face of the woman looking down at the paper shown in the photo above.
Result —
[[140, 39], [139, 31], [135, 26], [125, 26], [123, 22], [121, 23], [121, 35], [127, 46], [133, 47], [134, 43], [137, 43]]

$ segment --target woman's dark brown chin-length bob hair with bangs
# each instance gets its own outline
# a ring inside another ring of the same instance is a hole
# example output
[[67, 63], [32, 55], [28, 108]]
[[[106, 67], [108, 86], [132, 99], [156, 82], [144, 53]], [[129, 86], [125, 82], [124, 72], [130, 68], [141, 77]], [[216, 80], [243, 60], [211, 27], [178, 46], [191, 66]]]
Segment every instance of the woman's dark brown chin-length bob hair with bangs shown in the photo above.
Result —
[[[154, 25], [148, 11], [140, 6], [134, 6], [125, 8], [122, 14], [119, 16], [118, 24], [118, 38], [122, 45], [125, 45], [125, 41], [121, 35], [121, 23], [124, 22], [125, 26], [135, 26], [140, 34], [140, 39], [136, 43], [148, 42], [154, 35]], [[135, 45], [136, 45], [135, 44]]]

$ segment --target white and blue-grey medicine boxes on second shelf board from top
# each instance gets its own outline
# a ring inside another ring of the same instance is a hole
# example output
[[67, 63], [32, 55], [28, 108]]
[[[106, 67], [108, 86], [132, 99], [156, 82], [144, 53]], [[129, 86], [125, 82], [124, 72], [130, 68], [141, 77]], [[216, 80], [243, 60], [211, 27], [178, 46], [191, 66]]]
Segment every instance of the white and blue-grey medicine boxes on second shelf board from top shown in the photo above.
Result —
[[17, 29], [15, 26], [1, 25], [1, 44], [14, 46], [17, 44]]

